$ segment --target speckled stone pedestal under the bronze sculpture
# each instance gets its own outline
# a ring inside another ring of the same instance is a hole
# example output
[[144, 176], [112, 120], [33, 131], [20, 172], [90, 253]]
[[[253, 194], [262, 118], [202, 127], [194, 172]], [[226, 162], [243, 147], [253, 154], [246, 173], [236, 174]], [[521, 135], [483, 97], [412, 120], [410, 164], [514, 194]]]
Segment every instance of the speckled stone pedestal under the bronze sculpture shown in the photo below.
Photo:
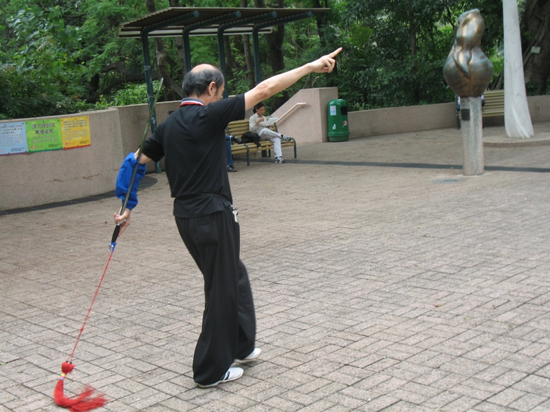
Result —
[[481, 97], [460, 98], [464, 176], [483, 174]]

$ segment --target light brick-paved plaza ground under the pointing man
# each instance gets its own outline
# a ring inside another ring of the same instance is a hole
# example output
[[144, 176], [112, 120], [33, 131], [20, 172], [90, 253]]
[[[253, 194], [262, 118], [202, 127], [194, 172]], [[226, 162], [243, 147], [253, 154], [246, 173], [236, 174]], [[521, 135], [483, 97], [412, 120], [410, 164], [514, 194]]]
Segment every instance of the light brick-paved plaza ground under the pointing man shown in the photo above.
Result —
[[[403, 133], [238, 161], [263, 354], [198, 389], [201, 274], [166, 179], [140, 191], [76, 349], [66, 393], [98, 411], [550, 411], [550, 124], [538, 145], [486, 128]], [[542, 136], [542, 138], [541, 138]], [[492, 145], [491, 145], [492, 144]], [[500, 147], [502, 146], [502, 147]], [[109, 258], [115, 198], [0, 216], [0, 411], [52, 391]]]

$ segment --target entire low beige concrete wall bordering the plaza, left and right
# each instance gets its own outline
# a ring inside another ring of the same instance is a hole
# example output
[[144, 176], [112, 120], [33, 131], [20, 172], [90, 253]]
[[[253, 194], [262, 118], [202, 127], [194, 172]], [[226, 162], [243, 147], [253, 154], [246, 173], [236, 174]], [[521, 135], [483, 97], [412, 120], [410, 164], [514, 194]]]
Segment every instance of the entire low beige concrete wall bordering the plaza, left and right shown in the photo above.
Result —
[[[320, 143], [328, 141], [327, 105], [336, 98], [336, 88], [301, 90], [272, 114], [280, 117], [294, 104], [307, 103], [280, 122], [279, 130], [296, 138], [298, 146]], [[550, 95], [533, 96], [528, 102], [532, 122], [550, 122]], [[178, 106], [179, 102], [157, 104], [157, 122], [163, 122]], [[454, 103], [445, 103], [349, 112], [350, 137], [455, 128], [454, 110]], [[143, 137], [148, 107], [139, 104], [72, 116], [82, 115], [89, 116], [91, 146], [0, 156], [0, 211], [68, 201], [114, 189], [122, 159], [137, 150]], [[52, 118], [57, 117], [45, 117]], [[30, 119], [17, 122], [24, 120]], [[503, 122], [498, 117], [485, 119], [485, 126]], [[154, 169], [152, 163], [148, 165], [148, 171]]]

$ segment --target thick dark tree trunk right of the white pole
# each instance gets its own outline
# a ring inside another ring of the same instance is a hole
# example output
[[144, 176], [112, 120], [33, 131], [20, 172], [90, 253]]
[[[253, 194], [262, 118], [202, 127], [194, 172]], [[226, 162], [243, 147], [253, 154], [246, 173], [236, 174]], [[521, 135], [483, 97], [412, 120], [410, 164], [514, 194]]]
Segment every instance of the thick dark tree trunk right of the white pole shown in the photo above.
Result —
[[550, 76], [550, 0], [528, 0], [522, 23], [530, 34], [529, 41], [523, 42], [527, 89], [546, 94]]

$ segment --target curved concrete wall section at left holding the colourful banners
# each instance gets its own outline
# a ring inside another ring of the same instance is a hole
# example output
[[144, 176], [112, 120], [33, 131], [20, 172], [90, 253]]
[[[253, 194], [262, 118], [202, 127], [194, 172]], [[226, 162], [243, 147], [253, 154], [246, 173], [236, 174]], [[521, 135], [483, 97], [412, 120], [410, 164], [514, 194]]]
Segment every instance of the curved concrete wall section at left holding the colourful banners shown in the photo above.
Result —
[[[114, 190], [122, 157], [118, 110], [111, 108], [44, 119], [83, 115], [89, 116], [91, 146], [0, 156], [0, 210]], [[17, 122], [25, 120], [32, 119], [17, 119]]]

